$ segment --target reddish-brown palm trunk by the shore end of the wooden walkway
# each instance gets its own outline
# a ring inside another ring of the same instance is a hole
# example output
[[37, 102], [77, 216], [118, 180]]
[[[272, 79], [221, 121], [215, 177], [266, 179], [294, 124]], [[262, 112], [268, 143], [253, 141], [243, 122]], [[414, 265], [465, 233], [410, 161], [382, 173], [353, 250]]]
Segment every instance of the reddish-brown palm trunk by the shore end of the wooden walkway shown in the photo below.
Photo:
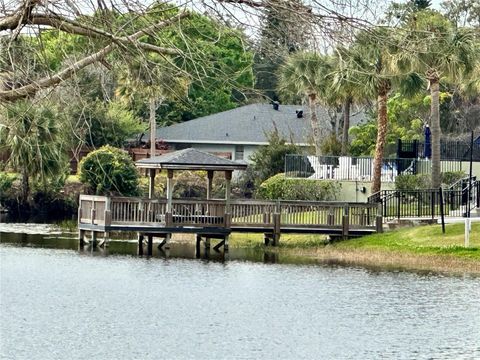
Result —
[[377, 97], [378, 132], [377, 132], [377, 144], [375, 146], [375, 157], [373, 160], [372, 194], [379, 192], [382, 188], [383, 151], [385, 149], [385, 141], [387, 138], [387, 129], [388, 129], [387, 98], [388, 98], [388, 87], [385, 86], [383, 89], [379, 91], [378, 97]]

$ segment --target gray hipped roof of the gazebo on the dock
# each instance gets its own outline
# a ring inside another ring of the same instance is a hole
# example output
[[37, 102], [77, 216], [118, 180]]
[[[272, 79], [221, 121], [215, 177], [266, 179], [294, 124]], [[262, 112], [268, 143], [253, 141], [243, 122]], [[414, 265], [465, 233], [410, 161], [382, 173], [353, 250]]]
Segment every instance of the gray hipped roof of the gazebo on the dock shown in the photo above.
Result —
[[237, 163], [204, 151], [189, 148], [142, 159], [135, 163], [142, 169], [173, 170], [245, 170], [247, 164]]

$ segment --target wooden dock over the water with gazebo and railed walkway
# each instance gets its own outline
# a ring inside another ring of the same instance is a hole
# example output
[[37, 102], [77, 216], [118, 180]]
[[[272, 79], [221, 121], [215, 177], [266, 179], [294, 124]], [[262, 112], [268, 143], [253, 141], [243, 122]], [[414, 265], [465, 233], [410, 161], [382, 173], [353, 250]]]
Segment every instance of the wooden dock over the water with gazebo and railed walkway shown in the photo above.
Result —
[[[96, 246], [98, 233], [104, 243], [110, 232], [125, 231], [138, 234], [138, 251], [143, 255], [144, 237], [147, 253], [152, 255], [153, 237], [163, 238], [159, 245], [168, 248], [174, 233], [196, 234], [197, 255], [200, 242], [210, 248], [210, 239], [221, 241], [214, 247], [228, 249], [231, 232], [264, 234], [265, 244], [278, 245], [281, 233], [315, 233], [340, 236], [359, 236], [382, 231], [382, 205], [376, 203], [343, 203], [288, 200], [230, 200], [234, 170], [247, 165], [224, 159], [200, 150], [186, 149], [136, 162], [150, 177], [149, 197], [80, 195], [78, 207], [79, 246], [84, 245], [87, 231]], [[167, 173], [166, 197], [154, 199], [154, 180], [157, 173]], [[207, 194], [203, 199], [173, 199], [175, 170], [207, 172]], [[212, 199], [212, 180], [215, 171], [225, 176], [225, 199]], [[207, 254], [207, 252], [205, 252]]]

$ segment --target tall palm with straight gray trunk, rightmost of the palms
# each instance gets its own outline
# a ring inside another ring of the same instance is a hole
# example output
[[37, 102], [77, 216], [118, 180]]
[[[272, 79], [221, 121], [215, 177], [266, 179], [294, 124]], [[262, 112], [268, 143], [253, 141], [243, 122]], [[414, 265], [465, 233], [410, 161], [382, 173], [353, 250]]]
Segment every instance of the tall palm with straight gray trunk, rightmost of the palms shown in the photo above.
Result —
[[407, 23], [405, 44], [408, 51], [399, 61], [422, 75], [431, 95], [432, 186], [441, 185], [440, 166], [440, 82], [443, 78], [458, 81], [468, 76], [479, 61], [474, 33], [455, 28], [440, 13], [424, 10], [415, 13]]

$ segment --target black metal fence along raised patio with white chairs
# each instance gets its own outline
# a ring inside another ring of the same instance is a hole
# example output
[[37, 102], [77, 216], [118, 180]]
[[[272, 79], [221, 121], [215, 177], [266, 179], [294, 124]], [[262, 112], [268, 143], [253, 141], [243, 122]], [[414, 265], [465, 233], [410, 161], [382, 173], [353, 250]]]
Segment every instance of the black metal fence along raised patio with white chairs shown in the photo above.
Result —
[[[460, 161], [442, 161], [441, 171], [460, 171]], [[400, 174], [429, 174], [431, 161], [425, 159], [384, 159], [382, 182], [394, 182]], [[372, 181], [373, 158], [350, 156], [287, 155], [285, 176], [290, 178]]]

